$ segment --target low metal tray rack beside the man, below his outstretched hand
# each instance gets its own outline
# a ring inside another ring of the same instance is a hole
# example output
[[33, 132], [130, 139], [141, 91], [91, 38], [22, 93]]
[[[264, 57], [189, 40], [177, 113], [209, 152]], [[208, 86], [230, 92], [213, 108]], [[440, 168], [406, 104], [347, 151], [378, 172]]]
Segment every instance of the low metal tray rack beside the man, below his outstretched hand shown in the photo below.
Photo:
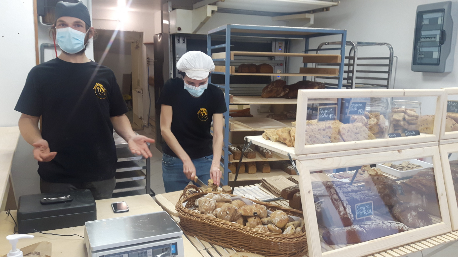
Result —
[[[137, 156], [131, 153], [127, 142], [116, 132], [113, 133], [116, 145], [116, 187], [113, 190], [113, 197], [116, 194], [135, 194], [133, 191], [142, 190], [141, 194], [151, 193], [151, 165], [150, 158]], [[138, 193], [136, 193], [138, 194]]]

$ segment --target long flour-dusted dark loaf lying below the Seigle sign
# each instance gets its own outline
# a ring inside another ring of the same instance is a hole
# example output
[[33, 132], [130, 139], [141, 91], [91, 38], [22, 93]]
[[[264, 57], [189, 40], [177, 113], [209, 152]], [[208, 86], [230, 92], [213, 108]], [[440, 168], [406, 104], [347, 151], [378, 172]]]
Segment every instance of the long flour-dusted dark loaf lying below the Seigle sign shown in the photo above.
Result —
[[407, 226], [397, 221], [372, 220], [347, 227], [327, 228], [323, 231], [323, 240], [328, 245], [357, 244], [408, 230]]

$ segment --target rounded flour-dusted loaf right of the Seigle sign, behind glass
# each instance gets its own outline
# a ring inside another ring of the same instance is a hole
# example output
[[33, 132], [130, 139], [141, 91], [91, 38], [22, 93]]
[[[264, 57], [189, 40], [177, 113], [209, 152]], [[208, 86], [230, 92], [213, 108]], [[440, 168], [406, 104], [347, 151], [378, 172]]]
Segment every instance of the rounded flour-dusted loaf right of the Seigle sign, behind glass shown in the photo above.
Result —
[[403, 203], [393, 208], [393, 218], [408, 227], [424, 227], [432, 224], [430, 215], [419, 205]]

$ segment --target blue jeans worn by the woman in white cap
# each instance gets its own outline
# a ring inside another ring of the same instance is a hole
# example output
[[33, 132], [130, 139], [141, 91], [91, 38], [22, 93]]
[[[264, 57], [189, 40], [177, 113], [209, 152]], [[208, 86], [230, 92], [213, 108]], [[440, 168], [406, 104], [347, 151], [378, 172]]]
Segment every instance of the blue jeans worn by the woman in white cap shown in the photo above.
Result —
[[[202, 158], [193, 159], [192, 163], [196, 167], [196, 176], [203, 182], [207, 183], [210, 179], [210, 168], [212, 167], [213, 154]], [[183, 173], [183, 162], [180, 158], [162, 155], [162, 179], [164, 180], [164, 189], [166, 193], [174, 191], [183, 191], [191, 181]], [[192, 182], [193, 184], [197, 185]]]

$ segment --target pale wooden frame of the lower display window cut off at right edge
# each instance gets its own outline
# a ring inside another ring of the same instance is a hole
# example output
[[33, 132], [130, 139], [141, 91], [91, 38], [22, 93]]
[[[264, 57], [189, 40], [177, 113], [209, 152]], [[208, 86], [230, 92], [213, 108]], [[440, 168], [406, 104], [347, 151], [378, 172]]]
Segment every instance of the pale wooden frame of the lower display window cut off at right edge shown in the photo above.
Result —
[[458, 152], [458, 143], [444, 144], [439, 146], [442, 160], [442, 171], [444, 173], [445, 189], [447, 190], [448, 210], [453, 231], [458, 230], [458, 204], [453, 186], [452, 171], [448, 160], [449, 153]]

